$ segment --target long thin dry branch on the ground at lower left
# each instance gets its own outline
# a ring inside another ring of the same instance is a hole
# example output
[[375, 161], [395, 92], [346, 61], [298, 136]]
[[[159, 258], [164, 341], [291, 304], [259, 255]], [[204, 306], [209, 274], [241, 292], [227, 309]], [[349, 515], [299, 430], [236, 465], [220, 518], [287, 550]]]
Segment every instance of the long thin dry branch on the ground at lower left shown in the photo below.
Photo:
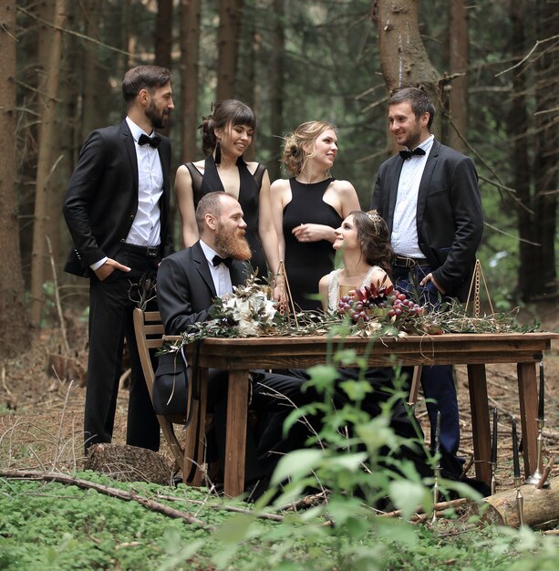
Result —
[[177, 519], [184, 520], [187, 524], [194, 524], [213, 531], [214, 528], [210, 525], [204, 524], [201, 519], [194, 517], [191, 514], [185, 514], [180, 510], [175, 510], [174, 508], [160, 504], [148, 498], [144, 498], [139, 493], [135, 492], [125, 492], [124, 490], [119, 490], [119, 488], [113, 488], [111, 486], [102, 485], [100, 483], [88, 482], [87, 480], [81, 480], [67, 474], [59, 472], [34, 472], [27, 470], [16, 470], [16, 471], [1, 471], [1, 478], [8, 478], [12, 480], [37, 480], [43, 482], [57, 482], [64, 483], [66, 485], [75, 485], [78, 488], [83, 488], [85, 490], [95, 490], [98, 493], [104, 493], [113, 498], [118, 498], [119, 500], [124, 500], [126, 502], [137, 502], [140, 505], [148, 508], [152, 512], [157, 512], [158, 514], [167, 515], [169, 517], [174, 517]]

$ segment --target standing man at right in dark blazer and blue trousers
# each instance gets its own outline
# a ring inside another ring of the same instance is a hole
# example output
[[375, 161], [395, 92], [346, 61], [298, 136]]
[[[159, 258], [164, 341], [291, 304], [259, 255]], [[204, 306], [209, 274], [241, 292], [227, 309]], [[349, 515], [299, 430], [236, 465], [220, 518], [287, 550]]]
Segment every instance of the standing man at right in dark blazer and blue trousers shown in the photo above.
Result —
[[[388, 101], [389, 129], [406, 148], [378, 169], [371, 208], [388, 223], [395, 259], [393, 278], [404, 291], [419, 285], [423, 303], [465, 301], [481, 242], [483, 213], [473, 161], [441, 145], [430, 133], [435, 109], [418, 88]], [[431, 442], [440, 410], [440, 447], [456, 454], [460, 425], [452, 367], [424, 367], [421, 384]]]

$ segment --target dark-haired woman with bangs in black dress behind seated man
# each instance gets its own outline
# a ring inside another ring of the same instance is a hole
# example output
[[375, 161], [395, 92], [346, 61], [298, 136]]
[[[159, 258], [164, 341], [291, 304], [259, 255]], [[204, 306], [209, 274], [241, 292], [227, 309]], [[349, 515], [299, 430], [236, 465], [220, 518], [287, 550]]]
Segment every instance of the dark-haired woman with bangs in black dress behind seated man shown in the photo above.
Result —
[[243, 102], [226, 99], [218, 103], [212, 115], [202, 121], [202, 151], [206, 159], [179, 167], [175, 192], [182, 218], [182, 239], [187, 247], [199, 237], [195, 212], [202, 196], [208, 192], [232, 194], [243, 208], [246, 239], [253, 252], [251, 265], [259, 276], [265, 277], [268, 269], [277, 273], [279, 254], [268, 172], [261, 163], [243, 160], [243, 153], [253, 141], [255, 126], [254, 112]]

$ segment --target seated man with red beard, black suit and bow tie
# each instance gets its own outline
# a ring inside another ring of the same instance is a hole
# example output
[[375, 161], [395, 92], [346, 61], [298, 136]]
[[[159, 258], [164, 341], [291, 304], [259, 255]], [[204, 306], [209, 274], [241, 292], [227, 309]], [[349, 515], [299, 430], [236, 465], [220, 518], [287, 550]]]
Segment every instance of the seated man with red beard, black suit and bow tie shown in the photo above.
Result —
[[[233, 293], [233, 285], [243, 284], [247, 277], [243, 261], [250, 259], [251, 250], [244, 238], [246, 223], [239, 202], [226, 192], [209, 192], [198, 203], [196, 223], [200, 240], [165, 258], [158, 272], [158, 305], [168, 335], [179, 335], [189, 326], [212, 319], [214, 298]], [[169, 372], [174, 358], [173, 354], [160, 357], [155, 383], [161, 374]], [[289, 412], [290, 403], [302, 406], [316, 400], [311, 390], [301, 391], [304, 379], [264, 371], [251, 371], [251, 377], [251, 406], [261, 413], [271, 412], [273, 418], [259, 435], [258, 446], [247, 433], [247, 482], [269, 477], [280, 453], [304, 445], [308, 434], [302, 425], [296, 423], [284, 438], [281, 420]], [[227, 371], [210, 369], [208, 409], [214, 411], [222, 457], [226, 397]]]

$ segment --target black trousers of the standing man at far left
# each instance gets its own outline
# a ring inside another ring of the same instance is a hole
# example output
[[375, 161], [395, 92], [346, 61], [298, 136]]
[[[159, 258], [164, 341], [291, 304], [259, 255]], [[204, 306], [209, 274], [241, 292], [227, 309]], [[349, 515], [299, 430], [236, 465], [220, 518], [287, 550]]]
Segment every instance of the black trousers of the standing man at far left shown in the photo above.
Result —
[[[116, 258], [131, 269], [115, 270], [104, 281], [93, 276], [89, 285], [88, 386], [84, 415], [84, 438], [88, 446], [110, 442], [117, 407], [122, 353], [126, 338], [131, 379], [126, 442], [153, 451], [159, 450], [160, 426], [151, 405], [150, 393], [141, 371], [134, 336], [132, 312], [140, 305], [146, 278], [154, 282], [160, 258], [150, 258], [125, 250]], [[150, 309], [156, 309], [151, 291]]]

